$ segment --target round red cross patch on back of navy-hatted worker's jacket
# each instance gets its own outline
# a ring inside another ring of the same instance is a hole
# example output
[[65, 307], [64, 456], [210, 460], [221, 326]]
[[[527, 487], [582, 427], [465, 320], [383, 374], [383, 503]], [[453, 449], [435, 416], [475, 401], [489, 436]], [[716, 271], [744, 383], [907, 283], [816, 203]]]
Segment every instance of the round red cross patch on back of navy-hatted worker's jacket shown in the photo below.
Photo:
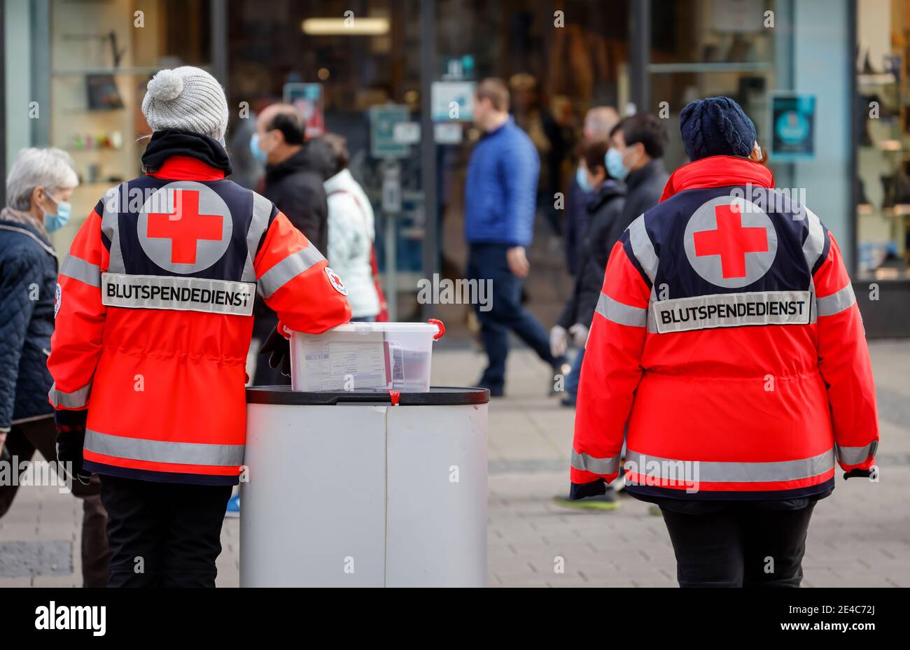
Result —
[[690, 217], [683, 245], [695, 273], [712, 285], [737, 288], [757, 282], [771, 268], [777, 232], [752, 201], [716, 196]]

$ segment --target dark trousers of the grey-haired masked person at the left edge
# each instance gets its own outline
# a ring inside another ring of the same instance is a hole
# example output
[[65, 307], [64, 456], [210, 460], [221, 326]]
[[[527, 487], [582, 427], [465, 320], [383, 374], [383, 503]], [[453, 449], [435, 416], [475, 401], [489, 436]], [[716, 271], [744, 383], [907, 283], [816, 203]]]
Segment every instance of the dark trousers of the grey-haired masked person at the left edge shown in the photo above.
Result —
[[[56, 462], [56, 425], [54, 416], [48, 415], [39, 420], [22, 422], [13, 425], [6, 435], [6, 450], [19, 463], [31, 460], [35, 449], [45, 457], [47, 462]], [[6, 514], [13, 505], [16, 485], [0, 485], [0, 517]], [[107, 515], [101, 505], [101, 483], [97, 476], [92, 476], [88, 485], [74, 480], [73, 495], [82, 499], [82, 585], [86, 587], [103, 587], [107, 584], [107, 562], [110, 552], [107, 550], [105, 526]]]

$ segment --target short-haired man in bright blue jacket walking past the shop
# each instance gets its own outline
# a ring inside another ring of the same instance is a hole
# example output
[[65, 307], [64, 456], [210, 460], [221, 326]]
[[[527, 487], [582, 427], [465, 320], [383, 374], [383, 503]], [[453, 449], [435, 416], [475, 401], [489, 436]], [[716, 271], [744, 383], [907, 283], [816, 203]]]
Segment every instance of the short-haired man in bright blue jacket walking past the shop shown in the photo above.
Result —
[[510, 330], [556, 372], [561, 372], [565, 359], [552, 355], [547, 331], [521, 305], [521, 279], [531, 270], [526, 249], [533, 236], [541, 161], [531, 138], [509, 115], [505, 82], [496, 78], [480, 82], [473, 120], [484, 135], [471, 152], [464, 188], [467, 275], [492, 283], [490, 305], [474, 309], [489, 360], [480, 386], [496, 397], [504, 393]]

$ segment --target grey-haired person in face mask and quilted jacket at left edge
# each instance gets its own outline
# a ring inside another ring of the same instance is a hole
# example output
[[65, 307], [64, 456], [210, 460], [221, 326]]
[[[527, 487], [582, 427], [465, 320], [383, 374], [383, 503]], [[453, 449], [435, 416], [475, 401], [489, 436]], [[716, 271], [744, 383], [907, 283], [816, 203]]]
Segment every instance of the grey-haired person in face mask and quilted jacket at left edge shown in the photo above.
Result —
[[[24, 463], [37, 450], [56, 462], [54, 408], [47, 403], [53, 378], [47, 370], [56, 315], [57, 258], [47, 234], [70, 215], [79, 180], [60, 149], [23, 149], [6, 178], [9, 205], [0, 212], [0, 448], [4, 463]], [[18, 485], [0, 485], [0, 516]], [[82, 499], [82, 576], [85, 586], [105, 586], [107, 515], [97, 477], [74, 480]]]

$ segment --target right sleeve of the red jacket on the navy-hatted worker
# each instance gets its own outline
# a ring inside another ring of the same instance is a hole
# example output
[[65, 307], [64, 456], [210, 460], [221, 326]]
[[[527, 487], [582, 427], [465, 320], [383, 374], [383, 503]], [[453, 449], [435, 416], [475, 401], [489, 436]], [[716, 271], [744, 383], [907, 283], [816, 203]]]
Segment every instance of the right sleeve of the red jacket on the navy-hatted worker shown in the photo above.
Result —
[[818, 366], [828, 387], [837, 461], [845, 471], [869, 469], [878, 447], [878, 412], [869, 347], [840, 248], [831, 237], [814, 273]]

